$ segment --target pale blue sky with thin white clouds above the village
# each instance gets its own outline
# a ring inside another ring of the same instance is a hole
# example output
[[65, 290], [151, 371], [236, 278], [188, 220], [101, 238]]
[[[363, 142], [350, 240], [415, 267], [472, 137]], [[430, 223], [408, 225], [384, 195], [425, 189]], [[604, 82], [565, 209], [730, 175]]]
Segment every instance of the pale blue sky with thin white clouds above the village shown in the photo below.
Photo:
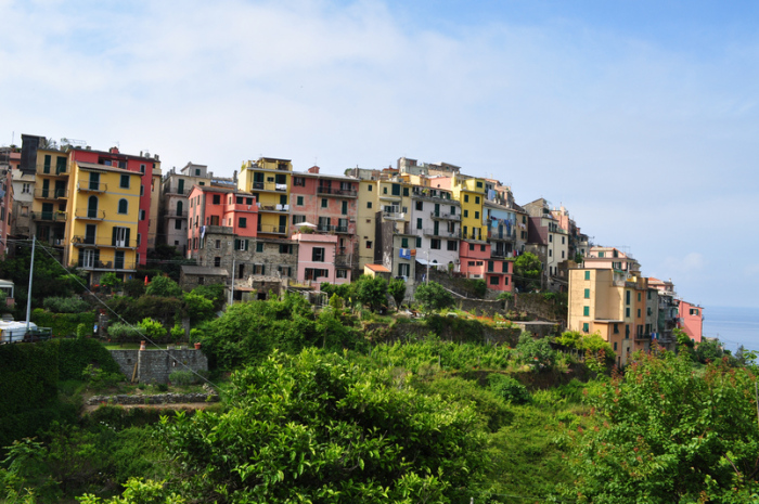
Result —
[[224, 177], [451, 163], [564, 205], [707, 318], [759, 307], [759, 2], [0, 0], [0, 145]]

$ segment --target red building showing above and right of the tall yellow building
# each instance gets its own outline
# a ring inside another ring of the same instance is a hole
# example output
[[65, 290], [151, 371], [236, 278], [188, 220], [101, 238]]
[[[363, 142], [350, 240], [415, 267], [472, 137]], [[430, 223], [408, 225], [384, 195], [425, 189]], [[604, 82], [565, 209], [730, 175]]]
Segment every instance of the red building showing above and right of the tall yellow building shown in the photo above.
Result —
[[92, 163], [104, 166], [115, 166], [142, 173], [140, 191], [140, 215], [137, 223], [137, 232], [141, 240], [137, 246], [137, 263], [144, 266], [147, 261], [147, 235], [151, 219], [158, 216], [151, 215], [151, 189], [153, 186], [153, 170], [160, 169], [158, 156], [147, 155], [133, 156], [121, 154], [118, 147], [111, 147], [107, 152], [91, 151], [87, 148], [74, 148], [70, 153], [70, 160], [77, 163]]

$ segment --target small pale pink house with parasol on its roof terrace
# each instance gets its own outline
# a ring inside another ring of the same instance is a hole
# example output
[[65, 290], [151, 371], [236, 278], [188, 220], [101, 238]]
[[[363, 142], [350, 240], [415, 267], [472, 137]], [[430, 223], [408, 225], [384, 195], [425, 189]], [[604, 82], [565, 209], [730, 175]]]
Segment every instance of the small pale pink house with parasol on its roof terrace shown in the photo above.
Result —
[[299, 283], [319, 286], [322, 282], [331, 284], [350, 283], [350, 269], [335, 264], [337, 235], [324, 233], [296, 233], [293, 240], [298, 243]]

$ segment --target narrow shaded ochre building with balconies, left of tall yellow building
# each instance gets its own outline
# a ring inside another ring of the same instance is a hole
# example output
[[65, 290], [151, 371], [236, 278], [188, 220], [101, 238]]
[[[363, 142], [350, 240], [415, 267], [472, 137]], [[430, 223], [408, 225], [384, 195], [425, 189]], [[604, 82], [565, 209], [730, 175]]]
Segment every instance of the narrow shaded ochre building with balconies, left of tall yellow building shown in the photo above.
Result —
[[38, 150], [30, 234], [52, 246], [63, 247], [68, 214], [68, 154]]

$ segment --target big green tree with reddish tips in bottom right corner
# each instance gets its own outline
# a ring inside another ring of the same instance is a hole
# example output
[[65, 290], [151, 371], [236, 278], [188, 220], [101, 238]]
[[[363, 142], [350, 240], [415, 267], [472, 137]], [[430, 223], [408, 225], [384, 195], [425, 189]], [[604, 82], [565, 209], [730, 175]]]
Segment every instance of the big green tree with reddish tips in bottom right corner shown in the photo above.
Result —
[[593, 428], [574, 434], [577, 480], [593, 503], [756, 502], [759, 428], [754, 374], [685, 354], [635, 354], [590, 396]]

